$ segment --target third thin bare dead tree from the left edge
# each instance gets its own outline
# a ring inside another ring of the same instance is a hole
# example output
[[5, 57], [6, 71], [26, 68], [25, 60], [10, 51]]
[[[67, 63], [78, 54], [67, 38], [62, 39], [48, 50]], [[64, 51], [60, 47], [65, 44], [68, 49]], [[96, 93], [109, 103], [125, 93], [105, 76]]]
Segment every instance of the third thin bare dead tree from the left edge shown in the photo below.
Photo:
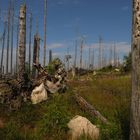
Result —
[[14, 34], [14, 2], [12, 2], [11, 9], [12, 28], [11, 28], [11, 74], [13, 74], [13, 34]]

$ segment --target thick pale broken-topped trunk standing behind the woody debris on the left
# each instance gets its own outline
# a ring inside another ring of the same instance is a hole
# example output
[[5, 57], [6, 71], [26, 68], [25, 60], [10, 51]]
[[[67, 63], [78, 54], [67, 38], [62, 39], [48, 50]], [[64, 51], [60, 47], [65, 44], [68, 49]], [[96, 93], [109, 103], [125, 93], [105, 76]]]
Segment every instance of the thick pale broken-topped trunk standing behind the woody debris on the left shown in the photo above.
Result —
[[20, 7], [19, 15], [19, 48], [18, 48], [18, 79], [22, 80], [25, 73], [26, 52], [26, 5]]

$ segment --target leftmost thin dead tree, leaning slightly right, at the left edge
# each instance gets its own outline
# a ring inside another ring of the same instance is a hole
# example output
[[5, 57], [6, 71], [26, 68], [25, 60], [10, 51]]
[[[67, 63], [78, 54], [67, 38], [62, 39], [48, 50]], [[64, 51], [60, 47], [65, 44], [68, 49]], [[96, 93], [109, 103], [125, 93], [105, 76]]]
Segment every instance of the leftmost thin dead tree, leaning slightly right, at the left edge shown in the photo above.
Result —
[[3, 32], [3, 40], [2, 40], [2, 52], [1, 52], [1, 74], [3, 73], [3, 54], [4, 54], [4, 46], [5, 46], [5, 34], [6, 34], [6, 22], [4, 23], [4, 32]]

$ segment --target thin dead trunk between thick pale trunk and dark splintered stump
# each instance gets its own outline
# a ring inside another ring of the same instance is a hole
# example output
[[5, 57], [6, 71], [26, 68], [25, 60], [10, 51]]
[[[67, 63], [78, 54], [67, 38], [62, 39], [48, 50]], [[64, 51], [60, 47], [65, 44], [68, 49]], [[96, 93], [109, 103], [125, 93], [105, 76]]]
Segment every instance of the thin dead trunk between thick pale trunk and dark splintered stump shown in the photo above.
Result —
[[29, 31], [29, 73], [31, 72], [31, 39], [32, 39], [32, 13], [30, 13], [30, 31]]

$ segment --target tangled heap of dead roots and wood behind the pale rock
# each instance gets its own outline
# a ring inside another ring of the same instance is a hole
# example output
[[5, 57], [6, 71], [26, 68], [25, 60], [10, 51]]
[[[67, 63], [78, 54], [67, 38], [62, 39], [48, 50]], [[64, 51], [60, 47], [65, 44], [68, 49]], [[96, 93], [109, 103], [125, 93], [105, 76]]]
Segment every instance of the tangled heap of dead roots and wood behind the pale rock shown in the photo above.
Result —
[[[0, 83], [0, 103], [7, 105], [10, 110], [18, 109], [23, 102], [31, 101], [32, 91], [44, 85], [44, 90], [49, 94], [64, 93], [67, 84], [67, 73], [64, 66], [59, 63], [55, 64], [55, 71], [53, 74], [48, 72], [47, 68], [43, 68], [40, 64], [34, 64], [37, 70], [37, 76], [34, 79], [29, 78], [28, 74], [23, 75], [22, 81], [17, 79], [5, 79]], [[41, 92], [37, 92], [36, 96], [40, 96]], [[42, 99], [43, 101], [43, 99]]]

